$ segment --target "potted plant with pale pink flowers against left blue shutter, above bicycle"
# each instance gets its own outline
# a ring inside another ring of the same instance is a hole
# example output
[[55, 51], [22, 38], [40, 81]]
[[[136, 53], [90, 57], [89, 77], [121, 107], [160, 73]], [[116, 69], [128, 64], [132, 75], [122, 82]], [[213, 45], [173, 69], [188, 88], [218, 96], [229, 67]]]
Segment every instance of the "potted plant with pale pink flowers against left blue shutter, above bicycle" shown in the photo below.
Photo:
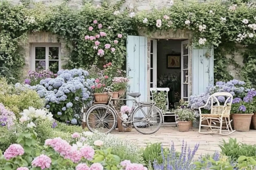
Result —
[[112, 87], [115, 92], [118, 92], [119, 96], [123, 96], [129, 79], [126, 77], [114, 77], [112, 80]]

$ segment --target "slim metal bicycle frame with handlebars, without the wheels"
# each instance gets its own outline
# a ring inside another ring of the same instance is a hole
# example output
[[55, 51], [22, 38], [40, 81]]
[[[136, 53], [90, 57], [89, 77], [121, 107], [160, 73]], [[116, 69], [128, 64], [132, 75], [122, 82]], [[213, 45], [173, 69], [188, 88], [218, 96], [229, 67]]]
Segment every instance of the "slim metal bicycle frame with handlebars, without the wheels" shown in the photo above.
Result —
[[[136, 108], [139, 107], [139, 109], [142, 111], [142, 113], [144, 114], [144, 116], [147, 117], [147, 115], [145, 114], [145, 112], [142, 110], [142, 107], [141, 107], [141, 106], [143, 106], [143, 105], [145, 105], [145, 104], [151, 104], [151, 108], [150, 108], [150, 112], [151, 112], [153, 106], [156, 104], [156, 102], [138, 102], [138, 101], [136, 100], [137, 98], [134, 98], [134, 99], [115, 99], [115, 98], [112, 98], [112, 95], [113, 95], [113, 94], [110, 94], [110, 93], [109, 93], [110, 89], [104, 88], [104, 90], [105, 90], [105, 89], [107, 90], [108, 96], [110, 96], [110, 99], [109, 99], [109, 101], [108, 101], [108, 103], [107, 103], [107, 108], [111, 107], [111, 109], [113, 109], [113, 110], [115, 111], [116, 115], [117, 115], [122, 121], [123, 121], [123, 119], [119, 116], [119, 114], [117, 114], [117, 110], [114, 108], [114, 105], [112, 104], [111, 100], [113, 99], [113, 100], [133, 101], [133, 107], [132, 107], [132, 109], [131, 109], [130, 117], [129, 117], [128, 121], [126, 122], [126, 124], [130, 124], [130, 123], [133, 123], [133, 122], [137, 122], [137, 121], [131, 121], [131, 120], [130, 120], [131, 117], [133, 116], [134, 111], [136, 110]], [[104, 90], [103, 90], [103, 92], [104, 92]], [[111, 91], [112, 91], [112, 90], [111, 90]], [[138, 107], [136, 107], [136, 105], [138, 105]], [[151, 116], [152, 116], [152, 112], [151, 112]], [[141, 120], [138, 120], [138, 121], [141, 121]]]

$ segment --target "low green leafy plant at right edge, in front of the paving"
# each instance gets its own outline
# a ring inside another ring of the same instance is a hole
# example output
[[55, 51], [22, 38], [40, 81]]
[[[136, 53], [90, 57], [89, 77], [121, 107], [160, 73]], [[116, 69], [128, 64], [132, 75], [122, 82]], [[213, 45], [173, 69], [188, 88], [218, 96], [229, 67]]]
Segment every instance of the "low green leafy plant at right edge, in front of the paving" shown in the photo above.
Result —
[[252, 157], [256, 155], [256, 145], [248, 145], [237, 142], [237, 139], [230, 138], [228, 142], [223, 139], [221, 145], [221, 153], [237, 160], [240, 156]]

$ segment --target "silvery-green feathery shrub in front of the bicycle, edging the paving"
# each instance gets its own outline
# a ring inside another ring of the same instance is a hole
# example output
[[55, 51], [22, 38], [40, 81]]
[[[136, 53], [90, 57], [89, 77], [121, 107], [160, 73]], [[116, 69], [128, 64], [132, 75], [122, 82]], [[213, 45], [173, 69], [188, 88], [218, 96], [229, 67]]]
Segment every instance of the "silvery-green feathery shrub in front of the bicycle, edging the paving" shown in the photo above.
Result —
[[140, 148], [131, 141], [102, 133], [95, 133], [87, 137], [89, 145], [93, 145], [93, 142], [96, 140], [102, 140], [104, 142], [103, 149], [112, 148], [111, 153], [118, 155], [121, 160], [130, 160], [132, 163], [144, 163]]

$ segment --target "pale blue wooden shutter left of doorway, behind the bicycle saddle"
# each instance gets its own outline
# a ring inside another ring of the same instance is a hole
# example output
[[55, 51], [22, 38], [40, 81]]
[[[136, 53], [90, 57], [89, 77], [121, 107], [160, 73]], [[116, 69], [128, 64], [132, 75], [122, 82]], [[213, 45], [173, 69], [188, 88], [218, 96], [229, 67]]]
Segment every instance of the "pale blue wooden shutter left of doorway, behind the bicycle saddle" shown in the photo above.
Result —
[[[127, 93], [141, 93], [140, 102], [147, 101], [147, 38], [128, 36], [126, 40], [126, 74], [130, 77]], [[133, 99], [126, 96], [127, 99]], [[133, 102], [126, 105], [132, 107]]]

